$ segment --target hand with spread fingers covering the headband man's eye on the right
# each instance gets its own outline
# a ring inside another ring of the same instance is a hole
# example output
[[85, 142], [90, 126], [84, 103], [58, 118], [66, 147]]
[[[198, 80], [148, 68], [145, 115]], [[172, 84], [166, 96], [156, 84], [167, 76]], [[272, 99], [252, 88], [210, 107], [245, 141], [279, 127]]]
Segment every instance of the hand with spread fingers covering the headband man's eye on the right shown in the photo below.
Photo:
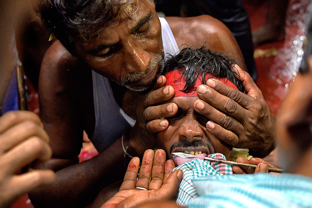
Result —
[[[235, 65], [246, 94], [219, 80], [197, 88], [195, 110], [209, 120], [207, 130], [235, 148], [249, 148], [264, 157], [274, 148], [275, 117], [250, 75]], [[203, 102], [204, 101], [204, 102]]]

